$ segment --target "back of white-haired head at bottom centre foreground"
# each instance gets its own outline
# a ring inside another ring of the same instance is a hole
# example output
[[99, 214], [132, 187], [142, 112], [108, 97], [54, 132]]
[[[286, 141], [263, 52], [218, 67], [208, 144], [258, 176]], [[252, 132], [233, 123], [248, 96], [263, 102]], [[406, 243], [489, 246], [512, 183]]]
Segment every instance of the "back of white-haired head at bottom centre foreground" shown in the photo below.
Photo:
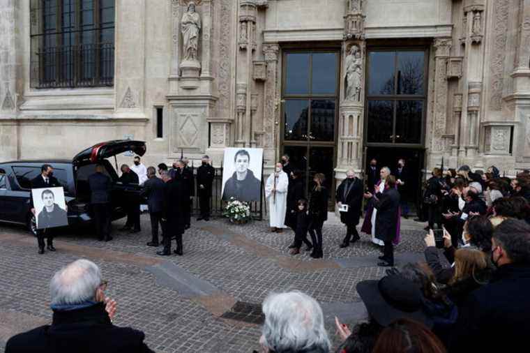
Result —
[[302, 292], [274, 293], [263, 302], [259, 339], [265, 352], [328, 353], [331, 343], [319, 303]]

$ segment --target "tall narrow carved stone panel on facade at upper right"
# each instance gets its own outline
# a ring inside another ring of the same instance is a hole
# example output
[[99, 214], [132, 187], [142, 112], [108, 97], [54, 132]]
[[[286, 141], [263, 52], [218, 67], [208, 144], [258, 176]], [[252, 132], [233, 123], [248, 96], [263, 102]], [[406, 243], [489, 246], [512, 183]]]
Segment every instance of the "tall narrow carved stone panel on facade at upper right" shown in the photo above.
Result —
[[504, 61], [506, 57], [506, 37], [508, 32], [509, 1], [496, 0], [493, 20], [493, 50], [490, 64], [490, 108], [501, 110], [504, 87]]

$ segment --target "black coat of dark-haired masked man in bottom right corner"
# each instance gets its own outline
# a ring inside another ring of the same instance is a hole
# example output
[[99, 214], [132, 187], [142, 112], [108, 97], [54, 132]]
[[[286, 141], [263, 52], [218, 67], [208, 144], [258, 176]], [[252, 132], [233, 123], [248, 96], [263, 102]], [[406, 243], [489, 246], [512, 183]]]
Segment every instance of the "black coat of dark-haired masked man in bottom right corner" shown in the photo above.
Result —
[[449, 352], [527, 352], [530, 264], [506, 264], [458, 310]]

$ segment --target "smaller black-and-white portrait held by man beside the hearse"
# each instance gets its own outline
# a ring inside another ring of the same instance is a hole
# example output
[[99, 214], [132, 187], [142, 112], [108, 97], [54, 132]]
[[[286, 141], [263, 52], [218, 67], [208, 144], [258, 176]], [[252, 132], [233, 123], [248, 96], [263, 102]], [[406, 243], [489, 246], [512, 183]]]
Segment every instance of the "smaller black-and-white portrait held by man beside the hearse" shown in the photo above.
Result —
[[37, 229], [68, 225], [68, 213], [63, 188], [38, 188], [31, 190]]

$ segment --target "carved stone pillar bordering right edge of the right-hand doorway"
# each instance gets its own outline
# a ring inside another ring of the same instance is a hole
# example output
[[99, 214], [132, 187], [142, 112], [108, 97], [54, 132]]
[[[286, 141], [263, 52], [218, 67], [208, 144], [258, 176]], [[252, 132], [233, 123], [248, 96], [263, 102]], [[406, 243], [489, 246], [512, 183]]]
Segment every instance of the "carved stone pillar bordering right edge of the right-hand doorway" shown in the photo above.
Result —
[[432, 128], [432, 156], [444, 153], [444, 135], [447, 124], [447, 62], [451, 38], [434, 38], [434, 115]]

